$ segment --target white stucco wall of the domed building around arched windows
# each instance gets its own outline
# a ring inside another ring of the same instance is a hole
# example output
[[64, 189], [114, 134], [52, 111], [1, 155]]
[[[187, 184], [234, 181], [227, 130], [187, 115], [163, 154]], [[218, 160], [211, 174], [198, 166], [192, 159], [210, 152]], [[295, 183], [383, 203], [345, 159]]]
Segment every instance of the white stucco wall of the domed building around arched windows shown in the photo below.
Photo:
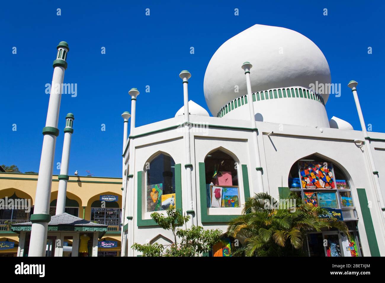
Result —
[[[204, 125], [223, 125], [233, 127], [249, 127], [247, 120], [234, 120], [216, 117], [190, 116], [192, 123]], [[149, 124], [142, 127], [137, 127], [132, 135], [143, 134], [163, 129], [166, 127], [178, 125], [182, 123], [182, 117], [172, 118], [165, 121]], [[273, 196], [278, 196], [278, 187], [288, 186], [288, 174], [291, 166], [298, 160], [311, 154], [316, 154], [320, 157], [325, 157], [337, 164], [345, 171], [352, 187], [353, 201], [358, 214], [358, 230], [361, 239], [361, 245], [364, 255], [370, 255], [365, 227], [362, 221], [360, 206], [358, 205], [358, 196], [356, 188], [365, 188], [367, 198], [372, 201], [373, 206], [370, 208], [375, 234], [377, 237], [378, 246], [381, 255], [385, 256], [384, 231], [381, 224], [381, 214], [375, 205], [377, 203], [375, 191], [373, 187], [373, 179], [370, 174], [367, 156], [364, 152], [364, 147], [360, 148], [353, 142], [355, 139], [362, 140], [362, 132], [331, 129], [327, 127], [314, 126], [295, 126], [287, 124], [276, 124], [269, 122], [256, 122], [258, 128], [259, 153], [261, 156], [261, 166], [263, 167], [263, 182], [264, 191], [267, 191]], [[267, 136], [267, 133], [273, 131], [274, 134]], [[191, 138], [191, 163], [192, 170], [192, 188], [194, 211], [194, 224], [202, 225], [207, 229], [219, 228], [223, 232], [226, 231], [226, 223], [202, 223], [200, 209], [200, 194], [199, 194], [199, 162], [204, 162], [206, 155], [217, 148], [223, 148], [225, 151], [231, 152], [231, 155], [239, 164], [246, 164], [248, 168], [250, 195], [262, 191], [261, 188], [256, 188], [256, 162], [253, 159], [254, 146], [252, 142], [251, 131], [239, 129], [221, 129], [218, 127], [208, 127], [207, 129], [197, 130], [192, 128], [190, 132]], [[385, 138], [385, 134], [373, 133], [373, 137]], [[144, 169], [145, 163], [151, 160], [151, 157], [157, 152], [166, 152], [175, 161], [176, 164], [181, 164], [181, 179], [182, 179], [182, 206], [183, 211], [187, 210], [187, 192], [186, 192], [186, 170], [184, 169], [185, 150], [183, 132], [180, 128], [167, 131], [148, 134], [142, 137], [132, 139], [134, 144], [134, 199], [128, 199], [127, 205], [134, 206], [134, 235], [128, 231], [129, 236], [133, 236], [134, 242], [148, 243], [149, 241], [162, 235], [164, 238], [173, 239], [172, 233], [154, 226], [137, 227], [137, 171]], [[377, 143], [376, 143], [377, 144]], [[381, 142], [378, 142], [377, 147], [384, 147]], [[126, 153], [127, 155], [128, 153]], [[377, 170], [384, 172], [383, 156], [385, 151], [375, 150]], [[126, 156], [127, 157], [127, 156]], [[243, 181], [241, 168], [238, 169], [239, 187], [241, 191], [241, 203], [244, 201]], [[380, 175], [381, 176], [381, 175]], [[141, 180], [139, 180], [141, 182]], [[383, 183], [383, 182], [382, 182]], [[145, 195], [145, 192], [142, 192]], [[142, 199], [142, 208], [145, 209], [145, 200]], [[228, 214], [226, 209], [208, 209], [208, 214]], [[240, 210], [240, 209], [238, 209]], [[234, 209], [233, 211], [237, 211]], [[128, 209], [126, 209], [126, 215]], [[240, 213], [240, 212], [239, 212]], [[150, 219], [150, 213], [143, 213], [144, 218]], [[137, 253], [134, 253], [136, 256]]]

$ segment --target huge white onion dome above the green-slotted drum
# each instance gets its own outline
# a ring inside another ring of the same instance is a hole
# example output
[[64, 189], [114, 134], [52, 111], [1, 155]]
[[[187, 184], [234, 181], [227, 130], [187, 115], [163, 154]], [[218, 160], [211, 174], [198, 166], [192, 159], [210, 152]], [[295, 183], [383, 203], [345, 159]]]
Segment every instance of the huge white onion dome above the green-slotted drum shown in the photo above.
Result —
[[[310, 89], [310, 84], [317, 81], [330, 83], [328, 62], [310, 39], [288, 28], [253, 25], [222, 44], [207, 66], [204, 97], [214, 117], [224, 105], [246, 92], [241, 69], [245, 61], [253, 64], [253, 93], [292, 86]], [[328, 94], [321, 95], [326, 103]]]

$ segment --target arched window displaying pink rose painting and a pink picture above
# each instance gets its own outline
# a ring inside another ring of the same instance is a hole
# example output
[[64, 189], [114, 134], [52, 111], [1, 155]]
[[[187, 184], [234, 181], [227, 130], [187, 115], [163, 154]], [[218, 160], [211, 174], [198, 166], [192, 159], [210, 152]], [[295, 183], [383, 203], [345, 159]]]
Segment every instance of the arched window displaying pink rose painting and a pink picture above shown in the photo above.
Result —
[[204, 160], [207, 207], [234, 208], [240, 207], [238, 166], [233, 157], [217, 150]]

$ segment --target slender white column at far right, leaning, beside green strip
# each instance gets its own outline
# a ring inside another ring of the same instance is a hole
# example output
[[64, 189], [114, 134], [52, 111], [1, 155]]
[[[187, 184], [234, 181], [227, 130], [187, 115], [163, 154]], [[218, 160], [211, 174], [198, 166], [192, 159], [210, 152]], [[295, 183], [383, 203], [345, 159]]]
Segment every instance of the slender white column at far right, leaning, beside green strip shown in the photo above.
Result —
[[357, 84], [358, 83], [356, 81], [351, 80], [348, 84], [348, 87], [350, 87], [352, 89], [354, 101], [355, 101], [356, 107], [357, 107], [358, 118], [360, 118], [362, 133], [364, 135], [364, 138], [367, 140], [367, 141], [365, 141], [365, 149], [368, 153], [368, 159], [369, 159], [370, 167], [372, 168], [372, 174], [373, 174], [373, 178], [374, 178], [374, 187], [375, 187], [375, 193], [376, 193], [376, 197], [377, 197], [378, 207], [380, 208], [380, 211], [381, 211], [383, 225], [385, 225], [385, 218], [384, 218], [385, 217], [385, 214], [384, 214], [385, 213], [385, 206], [384, 206], [384, 201], [383, 201], [383, 197], [382, 197], [380, 181], [378, 180], [378, 171], [377, 171], [376, 166], [374, 164], [372, 148], [370, 146], [370, 140], [367, 139], [368, 138], [368, 132], [366, 131], [366, 126], [365, 126], [365, 121], [363, 120], [360, 101], [358, 100], [357, 89], [356, 89]]

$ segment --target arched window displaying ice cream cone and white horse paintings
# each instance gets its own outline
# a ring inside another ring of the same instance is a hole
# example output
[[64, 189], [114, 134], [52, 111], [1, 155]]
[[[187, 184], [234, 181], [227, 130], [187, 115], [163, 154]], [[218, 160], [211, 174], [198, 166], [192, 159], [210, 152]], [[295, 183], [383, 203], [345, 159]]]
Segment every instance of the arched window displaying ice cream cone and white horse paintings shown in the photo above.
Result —
[[159, 154], [146, 170], [146, 211], [166, 210], [176, 206], [175, 162], [171, 156]]

